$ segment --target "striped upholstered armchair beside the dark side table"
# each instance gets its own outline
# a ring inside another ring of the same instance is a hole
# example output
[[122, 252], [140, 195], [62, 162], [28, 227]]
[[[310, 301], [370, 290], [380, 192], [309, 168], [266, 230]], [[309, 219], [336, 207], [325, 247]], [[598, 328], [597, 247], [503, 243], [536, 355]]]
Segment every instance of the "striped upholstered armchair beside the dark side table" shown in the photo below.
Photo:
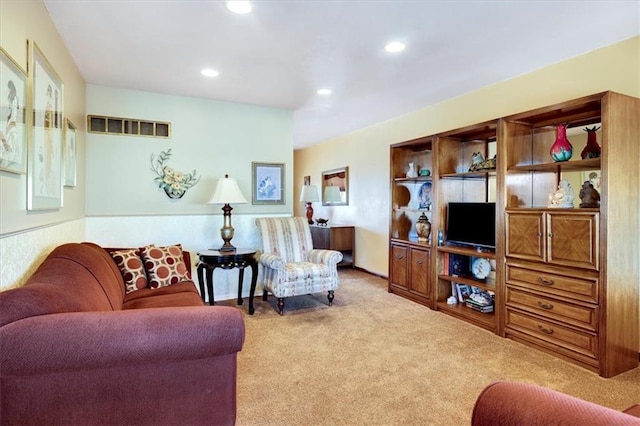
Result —
[[302, 217], [258, 218], [256, 225], [262, 238], [262, 300], [273, 294], [282, 315], [285, 297], [327, 291], [331, 306], [342, 253], [314, 249], [309, 223]]

